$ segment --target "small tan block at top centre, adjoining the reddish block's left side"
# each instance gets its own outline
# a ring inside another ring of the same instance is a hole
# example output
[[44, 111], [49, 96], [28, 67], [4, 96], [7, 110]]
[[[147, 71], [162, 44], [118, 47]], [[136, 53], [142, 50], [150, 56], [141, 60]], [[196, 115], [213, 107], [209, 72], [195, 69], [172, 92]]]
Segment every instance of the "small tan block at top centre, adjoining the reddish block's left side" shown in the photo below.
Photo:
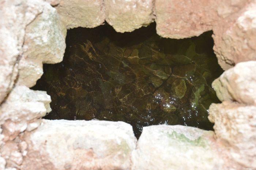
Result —
[[106, 21], [117, 32], [131, 32], [153, 21], [153, 0], [105, 0]]

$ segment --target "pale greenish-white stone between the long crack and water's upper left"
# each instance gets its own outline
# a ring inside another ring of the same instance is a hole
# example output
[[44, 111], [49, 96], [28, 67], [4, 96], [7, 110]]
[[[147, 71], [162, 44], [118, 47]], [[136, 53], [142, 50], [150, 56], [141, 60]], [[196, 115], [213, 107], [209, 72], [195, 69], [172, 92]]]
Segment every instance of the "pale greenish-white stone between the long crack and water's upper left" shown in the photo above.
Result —
[[55, 8], [43, 3], [44, 10], [26, 27], [23, 55], [19, 62], [18, 84], [33, 87], [42, 76], [42, 63], [59, 63], [65, 52], [66, 29]]

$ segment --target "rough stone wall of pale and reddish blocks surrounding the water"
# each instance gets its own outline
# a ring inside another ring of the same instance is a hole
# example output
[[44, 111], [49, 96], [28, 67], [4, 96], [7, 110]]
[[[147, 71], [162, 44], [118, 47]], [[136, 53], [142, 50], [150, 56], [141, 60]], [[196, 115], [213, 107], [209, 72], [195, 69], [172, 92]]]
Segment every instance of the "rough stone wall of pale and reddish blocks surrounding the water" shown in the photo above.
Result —
[[[0, 169], [256, 168], [255, 0], [0, 0]], [[213, 30], [226, 70], [212, 86], [215, 131], [123, 122], [41, 119], [50, 96], [33, 91], [42, 63], [63, 59], [67, 29], [108, 22], [131, 32], [155, 21], [162, 37]], [[237, 64], [238, 63], [238, 64]], [[182, 160], [182, 162], [180, 162]]]

